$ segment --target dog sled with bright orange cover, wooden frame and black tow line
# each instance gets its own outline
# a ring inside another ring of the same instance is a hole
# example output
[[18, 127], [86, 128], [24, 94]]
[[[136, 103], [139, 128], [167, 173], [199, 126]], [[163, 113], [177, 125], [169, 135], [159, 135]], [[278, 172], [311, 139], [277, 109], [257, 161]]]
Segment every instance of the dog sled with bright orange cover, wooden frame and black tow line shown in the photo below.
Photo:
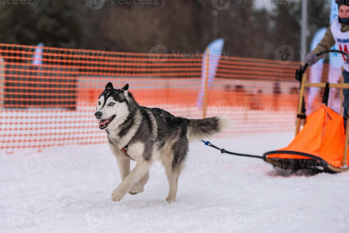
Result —
[[[338, 50], [326, 52], [337, 52], [347, 55]], [[320, 54], [321, 55], [321, 54]], [[268, 151], [262, 156], [251, 154], [240, 154], [212, 145], [209, 141], [203, 141], [205, 145], [214, 147], [221, 153], [228, 153], [238, 156], [247, 156], [263, 159], [273, 165], [278, 172], [294, 173], [299, 169], [312, 169], [314, 172], [338, 173], [348, 170], [349, 161], [349, 120], [344, 130], [343, 116], [327, 107], [329, 88], [347, 88], [348, 83], [312, 83], [306, 81], [304, 67], [300, 66], [296, 71], [296, 79], [300, 82], [300, 95], [298, 102], [298, 114], [296, 123], [296, 135], [291, 143], [284, 148], [275, 151]], [[322, 97], [322, 105], [309, 116], [305, 115], [304, 92], [306, 87], [325, 88]], [[344, 118], [348, 119], [348, 116]], [[299, 131], [301, 124], [303, 129]]]

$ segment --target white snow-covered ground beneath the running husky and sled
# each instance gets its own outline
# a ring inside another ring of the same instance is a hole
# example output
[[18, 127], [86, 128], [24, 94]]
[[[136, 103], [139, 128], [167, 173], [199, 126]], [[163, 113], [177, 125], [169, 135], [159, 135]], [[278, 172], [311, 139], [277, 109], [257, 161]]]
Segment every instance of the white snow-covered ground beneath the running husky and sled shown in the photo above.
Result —
[[[210, 141], [262, 154], [292, 138]], [[349, 232], [348, 172], [285, 177], [262, 160], [195, 143], [176, 202], [164, 201], [167, 179], [153, 166], [143, 193], [114, 203], [120, 174], [106, 144], [0, 154], [0, 232]]]

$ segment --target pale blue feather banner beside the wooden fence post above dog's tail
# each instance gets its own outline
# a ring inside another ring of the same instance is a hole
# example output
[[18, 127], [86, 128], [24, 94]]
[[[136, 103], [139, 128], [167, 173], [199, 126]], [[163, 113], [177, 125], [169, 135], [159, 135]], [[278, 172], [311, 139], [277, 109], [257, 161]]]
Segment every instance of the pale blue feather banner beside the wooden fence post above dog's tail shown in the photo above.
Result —
[[[223, 46], [224, 46], [223, 38], [215, 39], [206, 47], [205, 53], [202, 56], [201, 89], [199, 92], [198, 101], [196, 102], [196, 105], [198, 105], [200, 109], [202, 108], [203, 98], [205, 95], [206, 66], [208, 65], [208, 87], [210, 87], [212, 85], [212, 81], [216, 76], [217, 67], [221, 58]], [[208, 64], [206, 64], [207, 59], [208, 59]]]

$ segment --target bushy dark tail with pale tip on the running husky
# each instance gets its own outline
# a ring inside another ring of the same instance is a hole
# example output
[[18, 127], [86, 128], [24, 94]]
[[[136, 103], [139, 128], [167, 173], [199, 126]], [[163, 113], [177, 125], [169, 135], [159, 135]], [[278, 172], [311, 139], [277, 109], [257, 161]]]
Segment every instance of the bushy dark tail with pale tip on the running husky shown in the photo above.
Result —
[[205, 119], [188, 119], [187, 138], [189, 141], [205, 139], [224, 129], [229, 128], [231, 121], [228, 118], [208, 117]]

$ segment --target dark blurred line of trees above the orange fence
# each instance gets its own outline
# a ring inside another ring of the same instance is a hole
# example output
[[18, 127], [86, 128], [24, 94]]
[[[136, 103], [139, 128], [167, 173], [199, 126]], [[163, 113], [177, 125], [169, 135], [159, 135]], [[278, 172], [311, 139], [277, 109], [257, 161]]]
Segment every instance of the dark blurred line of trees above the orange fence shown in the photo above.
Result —
[[[89, 9], [85, 0], [2, 4], [0, 42], [124, 52], [148, 52], [162, 44], [168, 52], [203, 52], [222, 37], [229, 56], [274, 59], [281, 45], [300, 47], [300, 1], [279, 1], [268, 10], [244, 0], [232, 0], [225, 10], [211, 0], [167, 0], [163, 7], [107, 0], [99, 10]], [[308, 2], [310, 45], [316, 30], [329, 25], [329, 3]]]

